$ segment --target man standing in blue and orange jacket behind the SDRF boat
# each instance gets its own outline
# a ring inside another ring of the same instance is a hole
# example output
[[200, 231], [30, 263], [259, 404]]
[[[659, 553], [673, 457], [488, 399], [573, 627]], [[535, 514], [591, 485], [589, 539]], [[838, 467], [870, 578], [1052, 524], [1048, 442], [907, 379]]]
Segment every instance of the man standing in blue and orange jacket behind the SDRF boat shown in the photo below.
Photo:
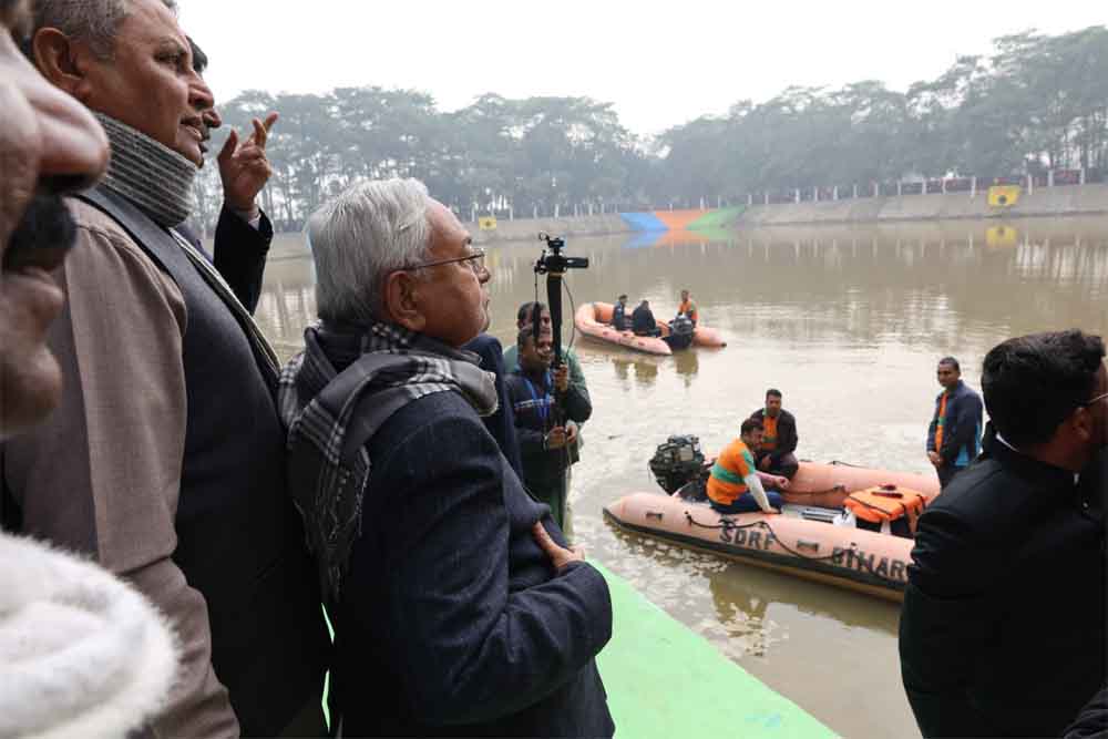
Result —
[[927, 429], [927, 459], [938, 472], [938, 484], [946, 487], [954, 475], [970, 466], [981, 452], [981, 396], [962, 381], [962, 367], [954, 357], [938, 360], [935, 414]]

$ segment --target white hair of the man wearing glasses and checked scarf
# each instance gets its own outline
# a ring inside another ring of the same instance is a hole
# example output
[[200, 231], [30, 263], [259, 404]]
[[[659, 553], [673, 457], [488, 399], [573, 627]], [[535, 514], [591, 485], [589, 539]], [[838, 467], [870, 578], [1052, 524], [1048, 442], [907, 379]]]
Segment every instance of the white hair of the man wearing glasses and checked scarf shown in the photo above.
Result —
[[418, 179], [387, 179], [355, 185], [311, 215], [306, 230], [320, 318], [383, 317], [386, 277], [430, 255], [430, 204]]

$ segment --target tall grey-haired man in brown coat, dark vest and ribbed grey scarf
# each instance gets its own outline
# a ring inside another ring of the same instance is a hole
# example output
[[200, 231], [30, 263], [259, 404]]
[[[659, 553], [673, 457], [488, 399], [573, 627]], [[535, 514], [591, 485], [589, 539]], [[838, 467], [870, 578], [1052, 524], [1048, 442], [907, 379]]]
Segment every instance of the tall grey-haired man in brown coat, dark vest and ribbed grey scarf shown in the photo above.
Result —
[[49, 345], [59, 410], [4, 449], [22, 530], [84, 552], [173, 623], [184, 655], [156, 736], [318, 736], [328, 650], [286, 492], [271, 349], [173, 230], [212, 94], [172, 0], [41, 0], [29, 52], [107, 134], [68, 201], [76, 248]]

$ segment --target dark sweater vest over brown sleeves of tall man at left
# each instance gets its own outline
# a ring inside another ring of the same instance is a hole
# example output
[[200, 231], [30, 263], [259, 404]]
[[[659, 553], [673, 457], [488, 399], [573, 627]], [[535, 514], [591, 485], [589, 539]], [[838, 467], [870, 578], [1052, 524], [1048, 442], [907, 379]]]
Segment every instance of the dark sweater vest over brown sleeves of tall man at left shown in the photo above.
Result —
[[229, 288], [222, 294], [176, 237], [103, 188], [79, 197], [119, 223], [184, 297], [188, 407], [173, 560], [207, 601], [212, 664], [244, 736], [279, 733], [321, 691], [328, 638], [286, 491], [276, 367]]

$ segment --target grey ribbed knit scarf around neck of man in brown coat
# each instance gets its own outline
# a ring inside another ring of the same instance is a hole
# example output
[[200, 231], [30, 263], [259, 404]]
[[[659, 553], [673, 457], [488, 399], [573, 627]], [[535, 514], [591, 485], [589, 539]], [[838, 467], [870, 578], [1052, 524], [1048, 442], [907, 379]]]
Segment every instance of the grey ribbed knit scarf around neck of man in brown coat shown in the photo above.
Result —
[[196, 165], [141, 131], [103, 113], [94, 115], [112, 145], [112, 161], [101, 185], [134, 203], [164, 228], [187, 218]]

